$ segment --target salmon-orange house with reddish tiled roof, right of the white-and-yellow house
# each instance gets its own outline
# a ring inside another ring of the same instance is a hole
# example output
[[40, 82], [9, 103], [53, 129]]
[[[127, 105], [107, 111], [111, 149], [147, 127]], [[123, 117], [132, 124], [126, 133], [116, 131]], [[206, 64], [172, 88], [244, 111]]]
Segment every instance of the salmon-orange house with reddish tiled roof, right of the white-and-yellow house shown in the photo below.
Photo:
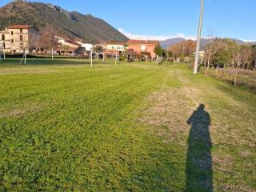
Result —
[[159, 45], [159, 41], [130, 39], [127, 44], [128, 49], [134, 50], [137, 54], [142, 54], [142, 52], [148, 52], [150, 53], [151, 58], [157, 57], [157, 55], [154, 53], [154, 48]]

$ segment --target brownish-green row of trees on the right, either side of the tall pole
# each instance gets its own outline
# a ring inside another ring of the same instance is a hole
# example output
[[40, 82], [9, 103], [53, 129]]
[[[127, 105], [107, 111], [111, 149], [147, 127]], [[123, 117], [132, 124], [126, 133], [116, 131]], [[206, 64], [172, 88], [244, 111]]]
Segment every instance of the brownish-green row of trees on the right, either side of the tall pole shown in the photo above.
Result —
[[[168, 47], [166, 53], [182, 62], [193, 63], [195, 47], [195, 41], [187, 40]], [[256, 45], [240, 45], [230, 38], [212, 38], [201, 50], [200, 62], [206, 70], [215, 67], [256, 70]]]

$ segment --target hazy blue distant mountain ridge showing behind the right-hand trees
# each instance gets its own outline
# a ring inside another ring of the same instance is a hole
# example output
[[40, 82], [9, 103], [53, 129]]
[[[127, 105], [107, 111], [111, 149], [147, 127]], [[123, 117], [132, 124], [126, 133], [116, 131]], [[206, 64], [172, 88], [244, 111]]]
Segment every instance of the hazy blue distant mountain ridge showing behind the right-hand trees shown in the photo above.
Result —
[[[248, 44], [248, 43], [256, 44], [256, 42], [244, 42], [244, 41], [236, 39], [236, 38], [230, 38], [230, 39], [233, 40], [234, 42], [238, 43], [239, 45], [245, 45], [245, 44]], [[201, 38], [201, 47], [206, 46], [211, 40], [212, 40], [212, 38]], [[175, 44], [178, 44], [178, 43], [184, 42], [184, 41], [186, 41], [185, 38], [169, 38], [169, 39], [166, 39], [164, 41], [161, 41], [160, 45], [164, 49], [166, 49], [169, 46], [173, 46]]]

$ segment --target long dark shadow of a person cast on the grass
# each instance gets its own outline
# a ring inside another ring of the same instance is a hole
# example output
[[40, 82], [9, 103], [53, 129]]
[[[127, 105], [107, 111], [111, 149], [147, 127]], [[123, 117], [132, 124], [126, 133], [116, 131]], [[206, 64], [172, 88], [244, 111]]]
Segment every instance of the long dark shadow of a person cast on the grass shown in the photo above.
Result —
[[187, 120], [191, 125], [186, 154], [186, 191], [214, 191], [210, 114], [201, 104]]

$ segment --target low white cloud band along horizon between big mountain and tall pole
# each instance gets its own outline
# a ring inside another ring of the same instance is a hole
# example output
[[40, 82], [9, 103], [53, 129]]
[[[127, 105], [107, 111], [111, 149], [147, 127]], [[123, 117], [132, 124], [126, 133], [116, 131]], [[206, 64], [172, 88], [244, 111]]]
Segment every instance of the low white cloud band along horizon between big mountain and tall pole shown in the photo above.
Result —
[[185, 38], [185, 39], [192, 39], [192, 40], [196, 39], [196, 37], [194, 36], [186, 36], [185, 34], [182, 34], [182, 33], [178, 33], [174, 35], [146, 35], [146, 34], [132, 34], [121, 28], [119, 28], [118, 30], [119, 32], [126, 35], [126, 37], [130, 39], [159, 40], [159, 41], [166, 40], [168, 38]]

